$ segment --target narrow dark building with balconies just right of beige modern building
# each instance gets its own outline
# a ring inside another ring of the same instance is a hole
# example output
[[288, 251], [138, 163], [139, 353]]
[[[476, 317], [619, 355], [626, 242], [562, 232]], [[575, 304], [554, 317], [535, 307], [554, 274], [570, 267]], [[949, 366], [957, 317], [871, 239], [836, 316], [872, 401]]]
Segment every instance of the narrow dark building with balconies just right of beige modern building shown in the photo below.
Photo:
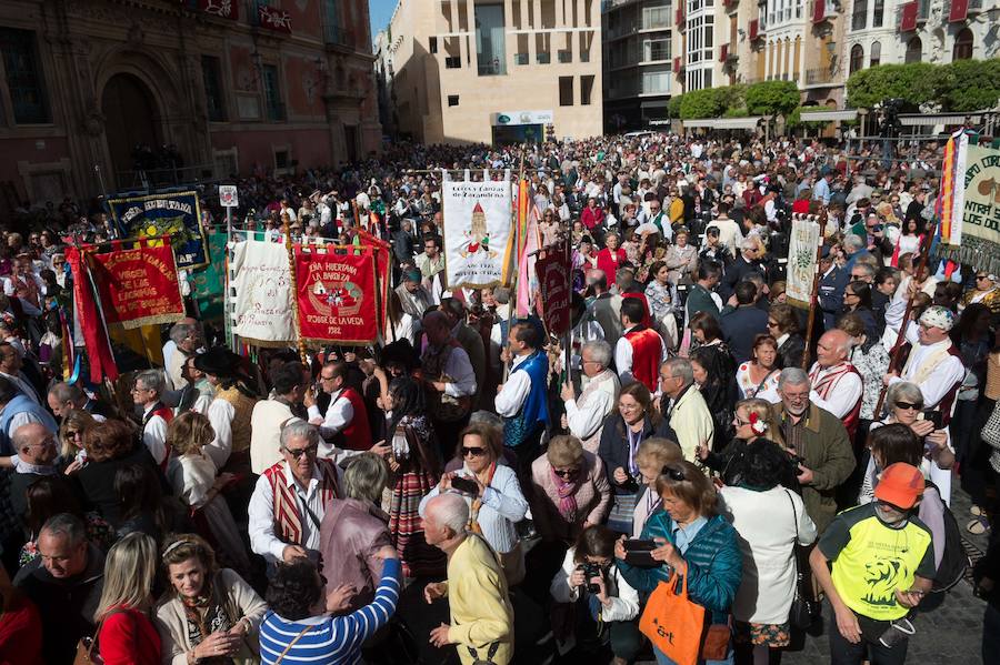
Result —
[[674, 89], [672, 1], [604, 0], [601, 23], [604, 125], [617, 131], [666, 120]]

